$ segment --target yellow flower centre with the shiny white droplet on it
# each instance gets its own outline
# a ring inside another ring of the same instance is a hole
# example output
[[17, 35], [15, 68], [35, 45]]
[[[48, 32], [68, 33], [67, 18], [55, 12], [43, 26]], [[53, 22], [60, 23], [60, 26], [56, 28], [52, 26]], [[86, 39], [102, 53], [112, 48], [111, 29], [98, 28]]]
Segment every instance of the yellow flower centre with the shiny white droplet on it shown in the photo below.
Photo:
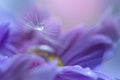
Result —
[[53, 50], [50, 49], [48, 46], [40, 46], [39, 48], [30, 49], [30, 52], [35, 53], [43, 57], [46, 61], [57, 60], [58, 66], [63, 66], [62, 61], [60, 58], [54, 54], [52, 54]]

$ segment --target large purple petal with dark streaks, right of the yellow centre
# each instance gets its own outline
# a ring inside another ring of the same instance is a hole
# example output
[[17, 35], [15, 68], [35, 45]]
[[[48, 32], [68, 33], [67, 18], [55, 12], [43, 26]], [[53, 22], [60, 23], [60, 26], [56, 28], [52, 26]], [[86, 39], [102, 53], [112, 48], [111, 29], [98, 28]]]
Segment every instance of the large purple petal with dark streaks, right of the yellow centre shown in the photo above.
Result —
[[75, 29], [63, 37], [64, 47], [58, 51], [64, 65], [81, 65], [94, 68], [104, 55], [113, 50], [112, 40], [100, 34], [88, 34], [91, 30]]

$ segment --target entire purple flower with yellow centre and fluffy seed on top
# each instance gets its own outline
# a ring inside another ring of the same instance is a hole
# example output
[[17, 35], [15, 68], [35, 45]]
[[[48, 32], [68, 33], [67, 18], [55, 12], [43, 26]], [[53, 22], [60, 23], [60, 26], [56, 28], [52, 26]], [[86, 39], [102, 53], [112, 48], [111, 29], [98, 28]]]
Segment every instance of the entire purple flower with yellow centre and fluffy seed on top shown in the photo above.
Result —
[[114, 50], [115, 21], [107, 18], [94, 28], [78, 26], [62, 35], [46, 12], [28, 11], [14, 24], [0, 26], [0, 80], [115, 80], [91, 70]]

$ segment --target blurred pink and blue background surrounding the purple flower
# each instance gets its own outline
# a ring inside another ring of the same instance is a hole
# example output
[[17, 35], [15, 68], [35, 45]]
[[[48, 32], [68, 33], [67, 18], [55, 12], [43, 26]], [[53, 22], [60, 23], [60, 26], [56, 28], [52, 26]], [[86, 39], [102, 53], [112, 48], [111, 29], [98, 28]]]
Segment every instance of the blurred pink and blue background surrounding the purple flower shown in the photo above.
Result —
[[[64, 30], [82, 23], [94, 26], [109, 6], [113, 7], [114, 15], [120, 11], [120, 0], [0, 0], [0, 9], [18, 15], [33, 4], [60, 19]], [[114, 57], [101, 67], [107, 74], [120, 78], [119, 46], [120, 43]]]

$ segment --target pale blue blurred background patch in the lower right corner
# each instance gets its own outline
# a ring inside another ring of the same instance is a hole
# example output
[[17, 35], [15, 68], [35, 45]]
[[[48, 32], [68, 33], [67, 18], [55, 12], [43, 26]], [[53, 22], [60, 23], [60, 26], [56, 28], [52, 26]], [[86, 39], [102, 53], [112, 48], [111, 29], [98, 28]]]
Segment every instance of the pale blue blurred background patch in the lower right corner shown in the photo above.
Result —
[[108, 61], [104, 62], [101, 67], [102, 71], [105, 73], [120, 78], [120, 42], [117, 46], [114, 56]]

